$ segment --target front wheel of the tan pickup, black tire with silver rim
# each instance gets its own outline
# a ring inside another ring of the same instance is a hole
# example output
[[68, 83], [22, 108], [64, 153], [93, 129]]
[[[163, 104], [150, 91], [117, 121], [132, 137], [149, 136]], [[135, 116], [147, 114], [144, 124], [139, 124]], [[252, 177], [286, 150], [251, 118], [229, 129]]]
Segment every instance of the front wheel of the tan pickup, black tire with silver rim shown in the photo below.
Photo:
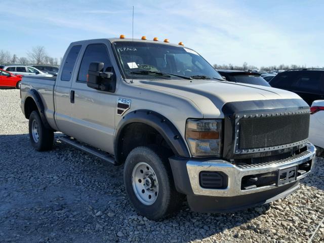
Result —
[[[157, 151], [153, 147], [137, 147], [127, 156], [124, 167], [124, 184], [131, 203], [140, 215], [151, 220], [161, 220], [172, 215], [180, 209], [184, 199], [184, 195], [175, 189], [169, 160], [164, 154], [167, 153]], [[142, 175], [139, 174], [139, 176], [142, 176], [143, 179], [138, 179], [138, 174], [134, 174], [134, 171], [138, 172], [138, 169], [143, 166], [149, 170], [143, 169], [144, 172], [140, 170]], [[147, 176], [152, 172], [152, 176], [155, 175], [154, 178]], [[157, 193], [156, 191], [152, 193], [151, 188], [145, 188], [147, 178], [144, 179], [144, 177], [149, 178], [149, 181], [157, 181], [154, 185], [155, 189], [157, 187]], [[141, 184], [143, 184], [143, 188], [141, 188]], [[138, 187], [141, 190], [136, 189]], [[150, 197], [150, 195], [152, 196]]]

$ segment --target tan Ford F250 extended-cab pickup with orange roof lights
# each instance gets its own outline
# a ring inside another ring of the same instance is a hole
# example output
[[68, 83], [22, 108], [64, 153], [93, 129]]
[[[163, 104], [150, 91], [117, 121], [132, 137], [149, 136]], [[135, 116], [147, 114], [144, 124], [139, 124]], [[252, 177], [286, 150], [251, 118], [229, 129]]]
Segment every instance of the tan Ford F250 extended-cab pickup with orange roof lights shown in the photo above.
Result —
[[21, 108], [35, 150], [51, 149], [61, 132], [123, 164], [131, 203], [152, 220], [185, 198], [196, 212], [267, 204], [297, 190], [314, 164], [310, 108], [298, 95], [227, 82], [168, 39], [74, 42], [56, 78], [23, 77]]

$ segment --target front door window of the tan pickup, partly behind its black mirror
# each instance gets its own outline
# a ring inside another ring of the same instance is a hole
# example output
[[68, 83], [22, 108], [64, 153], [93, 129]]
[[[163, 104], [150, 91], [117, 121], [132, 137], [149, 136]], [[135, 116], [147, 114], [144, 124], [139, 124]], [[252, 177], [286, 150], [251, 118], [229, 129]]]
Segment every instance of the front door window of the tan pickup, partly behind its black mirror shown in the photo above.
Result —
[[89, 71], [89, 65], [92, 62], [103, 62], [103, 71], [112, 71], [112, 65], [109, 59], [109, 54], [104, 44], [92, 44], [89, 45], [83, 56], [77, 80], [79, 82], [87, 82], [87, 74]]

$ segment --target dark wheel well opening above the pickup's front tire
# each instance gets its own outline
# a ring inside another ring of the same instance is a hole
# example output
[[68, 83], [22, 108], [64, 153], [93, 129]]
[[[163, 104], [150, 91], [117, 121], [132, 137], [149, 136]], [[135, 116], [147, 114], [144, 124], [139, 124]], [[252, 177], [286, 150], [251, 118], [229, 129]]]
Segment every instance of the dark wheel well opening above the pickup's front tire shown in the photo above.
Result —
[[163, 136], [154, 128], [143, 123], [131, 123], [126, 125], [119, 136], [117, 142], [118, 164], [123, 164], [127, 155], [136, 147], [156, 145], [159, 149], [164, 149], [169, 156], [174, 155], [169, 144]]

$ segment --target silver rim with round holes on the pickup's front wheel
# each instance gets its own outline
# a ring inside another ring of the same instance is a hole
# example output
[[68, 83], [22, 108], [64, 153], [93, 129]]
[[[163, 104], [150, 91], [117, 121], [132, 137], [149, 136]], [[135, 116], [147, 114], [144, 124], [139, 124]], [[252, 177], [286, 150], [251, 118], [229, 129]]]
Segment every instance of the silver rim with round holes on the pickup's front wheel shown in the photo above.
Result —
[[137, 199], [144, 205], [152, 205], [158, 196], [155, 172], [147, 163], [138, 163], [132, 173], [132, 185]]

